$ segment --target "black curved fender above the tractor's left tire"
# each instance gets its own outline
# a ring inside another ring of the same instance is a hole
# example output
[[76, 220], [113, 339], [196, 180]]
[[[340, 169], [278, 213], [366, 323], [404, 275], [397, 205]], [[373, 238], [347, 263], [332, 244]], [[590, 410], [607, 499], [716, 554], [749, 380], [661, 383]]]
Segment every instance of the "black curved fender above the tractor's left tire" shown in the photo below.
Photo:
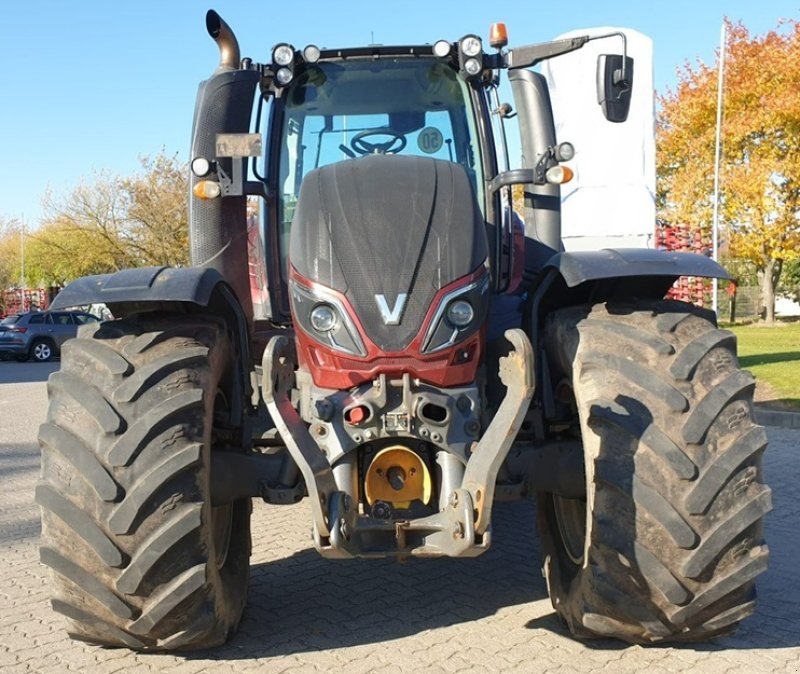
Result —
[[225, 322], [234, 333], [242, 393], [234, 414], [244, 415], [252, 397], [251, 356], [247, 317], [233, 288], [209, 267], [140, 267], [113, 274], [84, 276], [70, 283], [53, 300], [51, 309], [105, 304], [115, 318], [169, 311], [202, 313]]

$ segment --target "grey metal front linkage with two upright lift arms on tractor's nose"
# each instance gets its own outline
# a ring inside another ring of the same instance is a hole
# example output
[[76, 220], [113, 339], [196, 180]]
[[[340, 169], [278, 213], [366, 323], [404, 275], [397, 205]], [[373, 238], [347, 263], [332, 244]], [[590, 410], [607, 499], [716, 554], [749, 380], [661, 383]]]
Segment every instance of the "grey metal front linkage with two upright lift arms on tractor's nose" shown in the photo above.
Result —
[[[534, 392], [534, 358], [522, 330], [505, 333], [513, 350], [500, 360], [506, 395], [483, 437], [472, 446], [461, 484], [434, 515], [381, 520], [360, 515], [352, 494], [337, 485], [334, 470], [292, 404], [294, 343], [273, 337], [264, 351], [262, 389], [267, 409], [300, 468], [311, 502], [314, 541], [325, 557], [477, 556], [491, 542], [495, 481]], [[341, 413], [341, 410], [339, 410]]]

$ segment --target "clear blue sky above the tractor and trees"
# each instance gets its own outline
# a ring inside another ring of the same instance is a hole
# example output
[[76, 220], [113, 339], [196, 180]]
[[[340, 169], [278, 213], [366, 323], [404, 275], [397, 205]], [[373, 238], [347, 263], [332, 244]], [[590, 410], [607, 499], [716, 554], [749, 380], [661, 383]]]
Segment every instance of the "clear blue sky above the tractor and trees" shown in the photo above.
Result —
[[503, 21], [511, 47], [595, 26], [653, 39], [654, 82], [674, 87], [687, 61], [713, 63], [723, 17], [758, 35], [800, 20], [800, 0], [0, 0], [0, 219], [35, 229], [42, 199], [96, 172], [131, 175], [163, 150], [188, 160], [198, 83], [219, 52], [205, 30], [213, 8], [242, 56], [271, 47], [422, 44], [486, 38]]

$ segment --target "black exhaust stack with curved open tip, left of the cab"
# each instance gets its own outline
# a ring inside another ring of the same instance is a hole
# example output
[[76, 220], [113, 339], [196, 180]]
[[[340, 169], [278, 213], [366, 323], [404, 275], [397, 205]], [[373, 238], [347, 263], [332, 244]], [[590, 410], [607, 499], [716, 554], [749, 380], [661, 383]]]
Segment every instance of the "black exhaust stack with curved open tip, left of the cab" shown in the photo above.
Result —
[[[220, 16], [206, 14], [208, 34], [219, 46], [220, 62], [200, 83], [192, 124], [191, 159], [216, 161], [232, 173], [232, 160], [216, 156], [217, 134], [247, 133], [259, 74], [239, 69], [239, 44]], [[201, 201], [192, 190], [202, 178], [189, 180], [189, 249], [192, 265], [219, 271], [232, 286], [252, 330], [253, 301], [247, 250], [247, 197], [226, 196]]]

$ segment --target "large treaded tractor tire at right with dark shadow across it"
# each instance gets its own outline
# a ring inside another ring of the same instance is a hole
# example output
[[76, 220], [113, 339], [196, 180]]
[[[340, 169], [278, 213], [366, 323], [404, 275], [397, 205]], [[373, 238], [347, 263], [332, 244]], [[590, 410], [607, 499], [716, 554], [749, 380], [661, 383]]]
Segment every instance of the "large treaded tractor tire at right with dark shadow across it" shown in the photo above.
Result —
[[771, 509], [767, 436], [735, 337], [691, 305], [637, 302], [555, 312], [545, 348], [587, 489], [585, 500], [538, 497], [556, 611], [578, 637], [733, 631], [754, 609]]

